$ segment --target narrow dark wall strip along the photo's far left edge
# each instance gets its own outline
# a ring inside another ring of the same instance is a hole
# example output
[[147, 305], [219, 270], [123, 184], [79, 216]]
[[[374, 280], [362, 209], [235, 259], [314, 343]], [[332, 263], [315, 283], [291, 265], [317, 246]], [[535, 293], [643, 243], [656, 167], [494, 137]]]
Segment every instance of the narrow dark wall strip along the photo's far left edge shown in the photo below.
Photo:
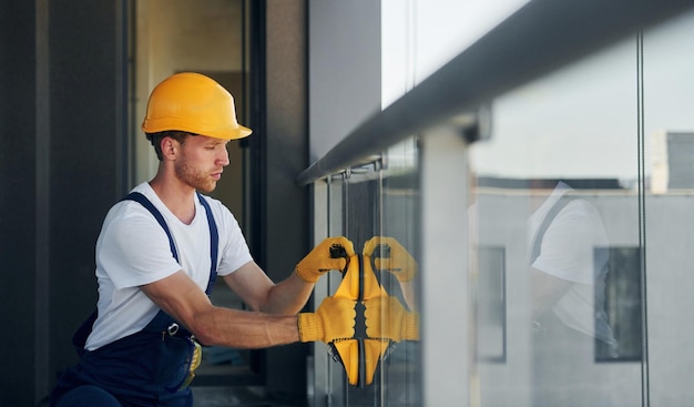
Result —
[[0, 0], [0, 405], [34, 401], [34, 3]]

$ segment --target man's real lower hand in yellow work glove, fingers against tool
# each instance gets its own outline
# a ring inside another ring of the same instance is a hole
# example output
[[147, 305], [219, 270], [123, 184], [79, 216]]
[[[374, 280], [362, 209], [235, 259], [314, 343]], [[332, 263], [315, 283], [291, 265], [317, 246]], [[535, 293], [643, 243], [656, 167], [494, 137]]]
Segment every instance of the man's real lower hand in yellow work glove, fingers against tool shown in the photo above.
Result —
[[298, 315], [299, 339], [323, 340], [329, 344], [336, 339], [354, 337], [356, 304], [357, 302], [350, 298], [325, 297], [315, 313]]

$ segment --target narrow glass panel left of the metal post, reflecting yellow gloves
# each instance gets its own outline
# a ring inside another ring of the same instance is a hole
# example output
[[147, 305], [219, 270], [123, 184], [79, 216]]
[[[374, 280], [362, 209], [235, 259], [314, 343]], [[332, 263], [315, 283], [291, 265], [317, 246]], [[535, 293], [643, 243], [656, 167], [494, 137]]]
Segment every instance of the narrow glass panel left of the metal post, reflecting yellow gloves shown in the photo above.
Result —
[[[389, 149], [382, 159], [331, 176], [327, 193], [329, 235], [347, 236], [359, 255], [361, 276], [356, 299], [367, 302], [374, 296], [392, 296], [409, 313], [418, 308], [415, 293], [419, 216], [416, 163], [412, 139]], [[337, 272], [330, 273], [328, 295], [334, 295], [344, 284], [353, 282]], [[357, 336], [366, 333], [360, 315], [357, 308]], [[350, 359], [340, 357], [346, 354], [329, 346], [328, 352], [334, 356], [327, 368], [329, 404], [419, 405], [417, 329], [411, 335], [397, 343], [359, 340], [358, 372], [349, 365]], [[322, 352], [319, 346], [317, 352]]]

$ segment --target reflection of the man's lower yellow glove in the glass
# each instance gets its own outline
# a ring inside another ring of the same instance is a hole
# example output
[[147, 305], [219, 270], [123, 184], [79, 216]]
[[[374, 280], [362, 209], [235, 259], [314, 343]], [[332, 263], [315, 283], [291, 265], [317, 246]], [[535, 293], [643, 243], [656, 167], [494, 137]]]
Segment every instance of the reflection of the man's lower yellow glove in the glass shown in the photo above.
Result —
[[405, 311], [398, 298], [379, 296], [364, 302], [366, 336], [371, 339], [419, 340], [419, 315]]

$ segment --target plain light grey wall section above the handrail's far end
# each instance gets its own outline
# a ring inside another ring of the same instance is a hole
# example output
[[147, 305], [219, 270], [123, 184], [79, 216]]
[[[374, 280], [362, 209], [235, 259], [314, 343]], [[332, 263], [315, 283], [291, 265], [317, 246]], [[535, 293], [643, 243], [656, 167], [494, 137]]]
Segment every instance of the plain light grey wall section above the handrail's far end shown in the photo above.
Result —
[[310, 162], [380, 111], [380, 0], [309, 2]]

